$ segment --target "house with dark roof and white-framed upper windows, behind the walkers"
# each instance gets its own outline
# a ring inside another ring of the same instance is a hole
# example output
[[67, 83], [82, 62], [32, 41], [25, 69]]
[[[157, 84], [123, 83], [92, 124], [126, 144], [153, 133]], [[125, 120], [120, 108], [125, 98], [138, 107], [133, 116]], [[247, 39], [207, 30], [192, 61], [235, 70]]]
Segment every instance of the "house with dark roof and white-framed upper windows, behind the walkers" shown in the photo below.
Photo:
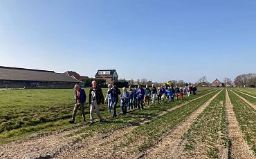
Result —
[[118, 73], [116, 70], [98, 70], [95, 78], [105, 79], [106, 83], [112, 83], [113, 81], [118, 81]]

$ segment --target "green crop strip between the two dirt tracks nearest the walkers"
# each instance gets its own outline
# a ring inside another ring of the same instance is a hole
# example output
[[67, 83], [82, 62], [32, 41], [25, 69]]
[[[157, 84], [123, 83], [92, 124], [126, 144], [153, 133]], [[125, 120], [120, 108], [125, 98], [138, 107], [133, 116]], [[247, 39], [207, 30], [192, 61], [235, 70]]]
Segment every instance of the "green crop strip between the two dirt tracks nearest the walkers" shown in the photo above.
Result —
[[[139, 151], [144, 151], [145, 149], [151, 147], [154, 142], [159, 138], [170, 132], [176, 125], [179, 125], [185, 118], [188, 118], [196, 109], [198, 109], [203, 103], [212, 98], [217, 92], [208, 94], [194, 100], [187, 105], [183, 105], [172, 112], [164, 114], [163, 116], [158, 116], [144, 125], [136, 127], [132, 131], [124, 135], [125, 139], [122, 141], [121, 145], [116, 145], [114, 149], [120, 149], [122, 147], [129, 147], [129, 145], [136, 145], [137, 149], [131, 151], [132, 153], [138, 153]], [[140, 142], [138, 142], [140, 141]]]

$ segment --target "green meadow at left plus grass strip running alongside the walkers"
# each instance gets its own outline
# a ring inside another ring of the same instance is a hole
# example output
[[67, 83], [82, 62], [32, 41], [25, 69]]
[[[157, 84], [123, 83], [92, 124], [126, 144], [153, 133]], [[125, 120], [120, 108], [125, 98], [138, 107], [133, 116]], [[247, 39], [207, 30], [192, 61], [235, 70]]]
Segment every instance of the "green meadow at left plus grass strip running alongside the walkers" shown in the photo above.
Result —
[[[176, 101], [175, 104], [183, 103], [191, 98], [196, 98], [213, 89], [202, 89], [196, 96]], [[86, 89], [88, 93], [89, 89]], [[24, 138], [35, 133], [51, 132], [70, 127], [84, 125], [80, 111], [77, 114], [77, 123], [71, 125], [68, 120], [73, 111], [73, 89], [25, 89], [8, 90], [0, 92], [0, 142], [8, 142], [19, 138]], [[107, 89], [103, 89], [103, 94], [107, 94]], [[4, 105], [2, 107], [2, 105]], [[108, 127], [109, 130], [115, 127], [125, 126], [134, 123], [141, 118], [147, 118], [157, 112], [161, 112], [172, 107], [169, 103], [154, 105], [152, 109], [145, 109], [143, 112], [130, 112], [127, 116], [116, 118], [104, 122], [100, 125], [90, 127], [91, 131], [99, 127]], [[111, 115], [107, 112], [107, 105], [100, 107], [100, 112], [104, 118]], [[118, 112], [120, 108], [118, 107]], [[136, 117], [135, 117], [136, 116]], [[86, 105], [86, 120], [89, 120], [89, 105]], [[109, 127], [113, 125], [113, 127]]]

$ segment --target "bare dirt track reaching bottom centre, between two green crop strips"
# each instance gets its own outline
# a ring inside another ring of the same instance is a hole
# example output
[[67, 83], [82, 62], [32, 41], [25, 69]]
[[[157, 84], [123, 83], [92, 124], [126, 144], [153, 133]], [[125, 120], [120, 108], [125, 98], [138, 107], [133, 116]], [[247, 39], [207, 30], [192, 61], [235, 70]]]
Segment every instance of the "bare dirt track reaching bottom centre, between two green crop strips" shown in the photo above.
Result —
[[206, 107], [208, 107], [208, 105], [210, 105], [212, 100], [214, 100], [214, 98], [216, 98], [220, 92], [201, 105], [199, 109], [197, 109], [189, 118], [184, 120], [178, 127], [170, 131], [170, 134], [163, 138], [161, 142], [158, 142], [158, 145], [148, 149], [145, 152], [144, 158], [181, 158], [185, 143], [182, 139], [183, 134], [185, 131], [188, 131], [193, 121], [196, 120], [196, 118]]

